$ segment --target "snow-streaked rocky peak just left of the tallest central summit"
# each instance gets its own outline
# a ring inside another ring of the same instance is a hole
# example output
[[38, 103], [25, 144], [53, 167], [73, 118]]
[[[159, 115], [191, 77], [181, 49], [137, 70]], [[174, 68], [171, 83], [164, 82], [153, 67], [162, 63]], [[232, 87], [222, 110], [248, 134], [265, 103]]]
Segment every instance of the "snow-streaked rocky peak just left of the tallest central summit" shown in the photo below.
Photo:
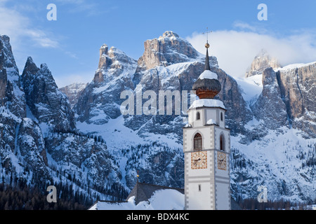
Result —
[[103, 45], [100, 48], [100, 62], [93, 81], [81, 93], [74, 110], [81, 122], [105, 124], [109, 119], [121, 115], [119, 106], [121, 92], [133, 90], [133, 74], [136, 60], [117, 48]]

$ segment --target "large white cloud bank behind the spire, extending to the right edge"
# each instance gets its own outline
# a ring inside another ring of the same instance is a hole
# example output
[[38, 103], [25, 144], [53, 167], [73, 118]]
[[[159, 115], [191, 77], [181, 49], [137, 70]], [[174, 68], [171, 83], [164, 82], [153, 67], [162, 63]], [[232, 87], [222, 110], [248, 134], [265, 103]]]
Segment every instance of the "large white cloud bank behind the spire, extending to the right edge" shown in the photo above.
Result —
[[[277, 57], [282, 66], [316, 61], [316, 31], [302, 30], [290, 36], [277, 37], [242, 22], [235, 22], [234, 27], [246, 31], [213, 31], [209, 36], [209, 53], [218, 58], [220, 68], [231, 76], [244, 77], [246, 69], [262, 49]], [[193, 33], [187, 41], [205, 54], [205, 35]]]

